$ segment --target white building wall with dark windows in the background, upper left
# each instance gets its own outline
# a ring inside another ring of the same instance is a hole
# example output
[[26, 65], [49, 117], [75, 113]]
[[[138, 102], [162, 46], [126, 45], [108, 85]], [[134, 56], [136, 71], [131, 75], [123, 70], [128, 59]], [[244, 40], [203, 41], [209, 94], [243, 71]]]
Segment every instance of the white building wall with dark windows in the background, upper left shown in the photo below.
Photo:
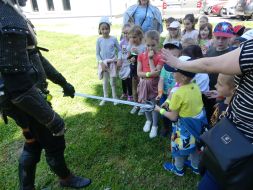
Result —
[[63, 10], [62, 0], [53, 0], [54, 11], [48, 11], [46, 0], [37, 0], [38, 12], [32, 9], [31, 0], [24, 7], [29, 18], [85, 17], [120, 15], [137, 0], [70, 0], [70, 11]]

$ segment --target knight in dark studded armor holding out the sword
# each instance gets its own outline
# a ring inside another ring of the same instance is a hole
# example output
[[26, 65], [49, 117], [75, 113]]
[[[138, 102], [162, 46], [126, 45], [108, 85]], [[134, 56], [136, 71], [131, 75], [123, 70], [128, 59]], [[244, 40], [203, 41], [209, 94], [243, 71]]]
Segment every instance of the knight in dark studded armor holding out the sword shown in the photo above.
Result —
[[42, 149], [61, 186], [85, 187], [91, 180], [75, 176], [65, 163], [66, 129], [47, 101], [46, 79], [60, 85], [66, 96], [73, 98], [75, 89], [40, 53], [33, 26], [19, 8], [25, 4], [26, 0], [0, 0], [0, 108], [26, 139], [19, 159], [20, 190], [35, 189]]

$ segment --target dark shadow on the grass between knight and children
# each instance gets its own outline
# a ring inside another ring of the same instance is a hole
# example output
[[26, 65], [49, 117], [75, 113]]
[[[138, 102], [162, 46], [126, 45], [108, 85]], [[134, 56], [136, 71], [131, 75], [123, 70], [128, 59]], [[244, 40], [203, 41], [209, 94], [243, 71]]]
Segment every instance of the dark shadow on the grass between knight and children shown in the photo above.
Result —
[[[119, 85], [120, 82], [117, 83]], [[94, 89], [96, 95], [102, 95], [102, 85], [96, 85]], [[168, 140], [159, 137], [150, 139], [148, 133], [142, 131], [144, 116], [131, 115], [130, 106], [106, 103], [100, 107], [98, 103], [97, 100], [83, 99], [83, 106], [88, 104], [96, 111], [64, 118], [68, 128], [65, 135], [66, 161], [75, 174], [92, 179], [92, 185], [87, 189], [195, 189], [198, 177], [188, 174], [178, 179], [164, 171], [162, 164], [170, 159]], [[19, 130], [15, 125], [11, 128]], [[17, 174], [18, 150], [22, 141], [20, 137], [18, 144], [12, 142], [6, 145], [6, 150], [12, 152], [14, 166], [1, 169], [0, 175], [5, 177], [0, 180], [0, 185], [4, 189], [17, 189], [18, 177], [15, 175], [13, 179], [13, 173]], [[0, 158], [2, 160], [2, 155]], [[38, 164], [36, 186], [38, 189], [61, 189], [44, 156]]]

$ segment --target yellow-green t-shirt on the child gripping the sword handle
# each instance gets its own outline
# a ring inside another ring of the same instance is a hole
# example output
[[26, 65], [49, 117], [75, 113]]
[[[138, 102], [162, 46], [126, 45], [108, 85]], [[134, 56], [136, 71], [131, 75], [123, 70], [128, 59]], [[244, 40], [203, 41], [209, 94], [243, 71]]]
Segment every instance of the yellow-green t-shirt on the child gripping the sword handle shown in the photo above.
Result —
[[194, 117], [203, 109], [202, 95], [198, 85], [190, 83], [180, 86], [171, 97], [171, 110], [178, 111], [180, 117]]

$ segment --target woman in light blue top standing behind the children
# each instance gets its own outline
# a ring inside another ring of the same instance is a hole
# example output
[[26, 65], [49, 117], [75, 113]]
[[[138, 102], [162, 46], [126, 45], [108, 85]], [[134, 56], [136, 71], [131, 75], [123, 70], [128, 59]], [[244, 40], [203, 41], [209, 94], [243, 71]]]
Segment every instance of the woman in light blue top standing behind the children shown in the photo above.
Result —
[[159, 9], [150, 4], [150, 0], [138, 0], [138, 3], [130, 6], [123, 15], [123, 25], [133, 23], [141, 26], [142, 30], [163, 31], [162, 16]]

